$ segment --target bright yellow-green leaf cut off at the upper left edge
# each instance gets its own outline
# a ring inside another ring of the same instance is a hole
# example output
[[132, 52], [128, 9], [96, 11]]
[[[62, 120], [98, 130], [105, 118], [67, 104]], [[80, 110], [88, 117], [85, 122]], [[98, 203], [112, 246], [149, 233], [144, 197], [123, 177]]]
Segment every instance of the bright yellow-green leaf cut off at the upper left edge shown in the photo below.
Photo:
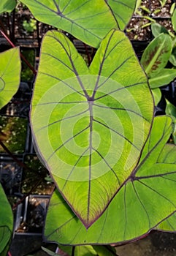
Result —
[[0, 109], [7, 105], [20, 84], [20, 50], [12, 48], [0, 53]]

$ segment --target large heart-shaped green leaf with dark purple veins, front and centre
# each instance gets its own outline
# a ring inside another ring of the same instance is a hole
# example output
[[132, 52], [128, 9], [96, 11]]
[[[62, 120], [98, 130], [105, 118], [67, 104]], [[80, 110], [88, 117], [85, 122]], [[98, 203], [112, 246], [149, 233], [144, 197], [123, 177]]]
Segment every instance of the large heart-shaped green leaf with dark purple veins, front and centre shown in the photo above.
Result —
[[86, 227], [137, 165], [152, 119], [147, 79], [123, 32], [107, 34], [90, 68], [67, 37], [47, 33], [31, 127], [58, 189]]

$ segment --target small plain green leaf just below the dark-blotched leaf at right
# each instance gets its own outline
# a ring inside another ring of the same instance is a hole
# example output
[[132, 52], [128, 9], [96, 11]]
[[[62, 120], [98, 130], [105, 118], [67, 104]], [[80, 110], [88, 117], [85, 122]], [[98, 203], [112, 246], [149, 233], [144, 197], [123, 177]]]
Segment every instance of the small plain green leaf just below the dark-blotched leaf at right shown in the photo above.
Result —
[[176, 78], [176, 69], [161, 69], [153, 78], [149, 78], [151, 89], [166, 86]]

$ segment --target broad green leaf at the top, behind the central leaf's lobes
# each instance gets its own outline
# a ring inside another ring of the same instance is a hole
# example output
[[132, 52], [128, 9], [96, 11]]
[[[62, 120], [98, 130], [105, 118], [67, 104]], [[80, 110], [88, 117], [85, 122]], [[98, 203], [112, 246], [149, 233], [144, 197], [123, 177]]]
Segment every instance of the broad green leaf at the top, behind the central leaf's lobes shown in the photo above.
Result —
[[21, 0], [38, 20], [97, 48], [113, 28], [125, 29], [136, 0]]

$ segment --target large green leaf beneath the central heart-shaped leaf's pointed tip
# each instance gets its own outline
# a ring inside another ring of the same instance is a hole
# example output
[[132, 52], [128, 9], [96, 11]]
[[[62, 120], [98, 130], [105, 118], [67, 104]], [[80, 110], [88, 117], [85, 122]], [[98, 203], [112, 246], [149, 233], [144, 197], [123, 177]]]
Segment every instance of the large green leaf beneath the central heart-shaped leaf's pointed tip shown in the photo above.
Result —
[[45, 239], [58, 244], [124, 242], [148, 233], [172, 214], [176, 207], [176, 165], [168, 163], [169, 154], [162, 151], [171, 131], [171, 118], [154, 118], [139, 165], [88, 230], [56, 190], [47, 211]]

